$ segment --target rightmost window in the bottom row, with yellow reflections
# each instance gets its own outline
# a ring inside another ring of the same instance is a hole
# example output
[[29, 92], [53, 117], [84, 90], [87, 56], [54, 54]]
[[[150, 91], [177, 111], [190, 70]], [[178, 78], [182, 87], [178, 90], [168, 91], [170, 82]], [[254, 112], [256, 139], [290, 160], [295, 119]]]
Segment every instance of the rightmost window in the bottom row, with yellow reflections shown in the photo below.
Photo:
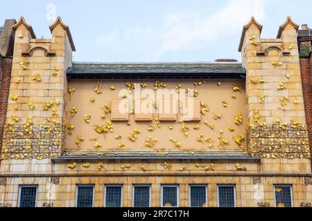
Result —
[[291, 185], [275, 185], [275, 206], [277, 207], [292, 207], [293, 193]]

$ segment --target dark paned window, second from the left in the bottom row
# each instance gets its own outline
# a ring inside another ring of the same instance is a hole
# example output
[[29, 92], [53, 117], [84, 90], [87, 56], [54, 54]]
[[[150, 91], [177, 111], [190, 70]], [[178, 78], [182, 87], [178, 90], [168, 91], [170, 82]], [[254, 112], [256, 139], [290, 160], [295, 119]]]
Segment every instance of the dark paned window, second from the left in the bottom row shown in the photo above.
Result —
[[76, 206], [92, 207], [93, 206], [94, 186], [80, 185], [77, 186]]

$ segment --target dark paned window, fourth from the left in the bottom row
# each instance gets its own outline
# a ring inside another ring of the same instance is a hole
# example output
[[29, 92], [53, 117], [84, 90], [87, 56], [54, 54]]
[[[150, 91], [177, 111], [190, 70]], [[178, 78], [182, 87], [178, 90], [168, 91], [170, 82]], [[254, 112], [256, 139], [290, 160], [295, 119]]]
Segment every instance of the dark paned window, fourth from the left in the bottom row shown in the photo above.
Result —
[[133, 206], [134, 207], [150, 206], [150, 186], [146, 185], [133, 186]]

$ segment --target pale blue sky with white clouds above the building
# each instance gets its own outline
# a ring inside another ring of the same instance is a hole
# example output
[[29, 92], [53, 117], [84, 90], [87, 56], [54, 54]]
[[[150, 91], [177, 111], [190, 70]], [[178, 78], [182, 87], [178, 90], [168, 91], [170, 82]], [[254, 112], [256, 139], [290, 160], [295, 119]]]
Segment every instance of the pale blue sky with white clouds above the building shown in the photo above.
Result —
[[0, 3], [0, 24], [23, 16], [37, 38], [51, 38], [60, 16], [73, 37], [73, 61], [214, 61], [238, 52], [243, 26], [256, 17], [275, 38], [291, 16], [312, 27], [311, 0], [15, 0]]

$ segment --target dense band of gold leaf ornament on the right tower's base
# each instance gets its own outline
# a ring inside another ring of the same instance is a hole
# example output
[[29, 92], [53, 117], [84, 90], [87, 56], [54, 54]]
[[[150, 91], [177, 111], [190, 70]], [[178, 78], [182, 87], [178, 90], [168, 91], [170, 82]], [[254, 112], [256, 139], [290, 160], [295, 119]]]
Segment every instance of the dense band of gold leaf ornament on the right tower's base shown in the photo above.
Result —
[[308, 131], [302, 124], [270, 124], [248, 128], [248, 153], [266, 159], [310, 159]]

